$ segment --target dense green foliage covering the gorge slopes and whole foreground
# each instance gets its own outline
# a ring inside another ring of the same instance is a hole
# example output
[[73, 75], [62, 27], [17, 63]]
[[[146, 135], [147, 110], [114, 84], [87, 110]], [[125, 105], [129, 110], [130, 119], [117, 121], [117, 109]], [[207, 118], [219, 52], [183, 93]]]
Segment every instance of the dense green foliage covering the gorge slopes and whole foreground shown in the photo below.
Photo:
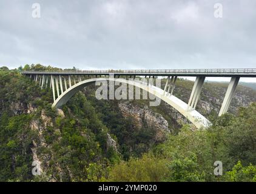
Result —
[[[19, 70], [59, 69], [37, 64]], [[146, 122], [139, 127], [116, 101], [96, 100], [94, 92], [78, 92], [62, 115], [51, 108], [50, 89], [1, 67], [0, 181], [256, 181], [255, 103], [204, 130], [178, 129], [166, 117], [176, 130], [157, 142], [156, 129]], [[164, 107], [153, 110], [166, 116]], [[117, 151], [107, 146], [108, 134]], [[41, 176], [32, 175], [35, 157]], [[223, 162], [223, 176], [214, 175], [214, 161]]]

